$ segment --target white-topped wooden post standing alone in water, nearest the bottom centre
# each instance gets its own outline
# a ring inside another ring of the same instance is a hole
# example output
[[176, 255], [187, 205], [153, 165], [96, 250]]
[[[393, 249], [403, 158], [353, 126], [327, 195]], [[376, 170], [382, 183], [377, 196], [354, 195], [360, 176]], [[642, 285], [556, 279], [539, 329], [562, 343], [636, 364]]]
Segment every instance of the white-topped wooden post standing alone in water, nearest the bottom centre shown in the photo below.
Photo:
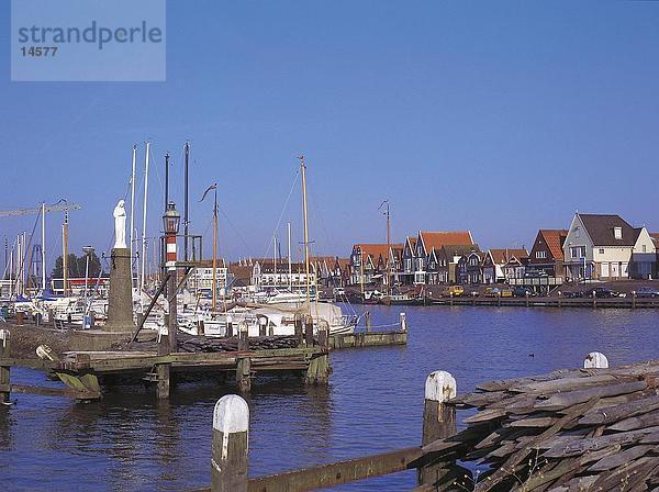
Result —
[[213, 412], [211, 492], [247, 492], [249, 406], [237, 394], [222, 396]]

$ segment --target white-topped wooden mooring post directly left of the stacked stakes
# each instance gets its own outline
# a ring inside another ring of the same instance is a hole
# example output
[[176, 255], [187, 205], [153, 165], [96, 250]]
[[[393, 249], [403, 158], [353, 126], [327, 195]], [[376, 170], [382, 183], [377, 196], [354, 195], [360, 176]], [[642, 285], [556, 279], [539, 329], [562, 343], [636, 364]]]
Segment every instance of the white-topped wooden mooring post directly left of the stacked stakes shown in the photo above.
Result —
[[[457, 434], [456, 407], [446, 404], [456, 394], [456, 380], [449, 372], [435, 371], [428, 374], [425, 382], [422, 446]], [[418, 482], [436, 483], [448, 472], [446, 465], [446, 462], [432, 461], [421, 467]]]

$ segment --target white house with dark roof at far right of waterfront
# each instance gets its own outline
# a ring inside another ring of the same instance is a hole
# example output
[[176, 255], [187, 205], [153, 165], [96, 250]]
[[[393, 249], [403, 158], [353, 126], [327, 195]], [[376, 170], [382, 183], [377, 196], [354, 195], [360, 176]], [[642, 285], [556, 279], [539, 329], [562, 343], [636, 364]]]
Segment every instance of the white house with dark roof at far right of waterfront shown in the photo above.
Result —
[[645, 227], [633, 227], [619, 215], [576, 213], [563, 243], [566, 277], [648, 278], [655, 251]]

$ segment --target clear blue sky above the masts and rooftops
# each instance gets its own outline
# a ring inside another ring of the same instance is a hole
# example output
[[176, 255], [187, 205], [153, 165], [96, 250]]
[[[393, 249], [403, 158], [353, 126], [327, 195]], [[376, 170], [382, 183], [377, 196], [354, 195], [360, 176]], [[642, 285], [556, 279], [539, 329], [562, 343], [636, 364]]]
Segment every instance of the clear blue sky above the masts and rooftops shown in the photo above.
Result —
[[[219, 183], [221, 251], [261, 256], [281, 220], [301, 237], [300, 153], [311, 238], [347, 256], [392, 235], [471, 230], [482, 247], [530, 245], [576, 210], [659, 230], [659, 2], [167, 2], [167, 81], [10, 81], [0, 24], [0, 209], [55, 202], [71, 247], [107, 249], [133, 144], [150, 139], [149, 235], [160, 226], [163, 155], [181, 203]], [[210, 253], [211, 208], [191, 204]], [[34, 217], [0, 219], [0, 234]], [[51, 259], [60, 245], [49, 215]], [[294, 249], [298, 249], [295, 244]]]

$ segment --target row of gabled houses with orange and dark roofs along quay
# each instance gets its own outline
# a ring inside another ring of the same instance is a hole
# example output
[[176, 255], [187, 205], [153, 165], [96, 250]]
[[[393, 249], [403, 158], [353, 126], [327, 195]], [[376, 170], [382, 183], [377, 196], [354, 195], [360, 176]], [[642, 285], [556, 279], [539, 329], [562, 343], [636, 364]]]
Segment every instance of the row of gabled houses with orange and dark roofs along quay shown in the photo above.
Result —
[[651, 279], [657, 241], [659, 234], [614, 214], [576, 213], [567, 230], [539, 230], [530, 251], [482, 250], [469, 231], [420, 231], [401, 244], [355, 244], [348, 278], [351, 284], [382, 286]]

